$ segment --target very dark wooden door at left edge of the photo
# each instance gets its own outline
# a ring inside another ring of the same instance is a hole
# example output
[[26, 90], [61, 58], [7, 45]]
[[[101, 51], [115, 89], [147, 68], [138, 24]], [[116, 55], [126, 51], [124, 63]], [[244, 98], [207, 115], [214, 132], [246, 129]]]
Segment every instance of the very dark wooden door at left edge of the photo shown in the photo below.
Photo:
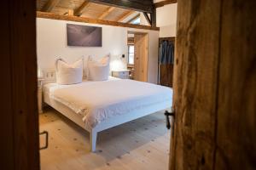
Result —
[[38, 170], [36, 1], [5, 0], [1, 15], [1, 167]]

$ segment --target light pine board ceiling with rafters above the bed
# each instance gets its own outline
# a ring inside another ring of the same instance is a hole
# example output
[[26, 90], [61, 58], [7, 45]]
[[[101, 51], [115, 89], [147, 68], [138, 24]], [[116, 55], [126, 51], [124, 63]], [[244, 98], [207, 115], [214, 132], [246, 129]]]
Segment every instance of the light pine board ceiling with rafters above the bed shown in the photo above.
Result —
[[118, 22], [129, 22], [139, 16], [139, 12], [134, 10], [110, 7], [84, 0], [37, 0], [37, 10]]

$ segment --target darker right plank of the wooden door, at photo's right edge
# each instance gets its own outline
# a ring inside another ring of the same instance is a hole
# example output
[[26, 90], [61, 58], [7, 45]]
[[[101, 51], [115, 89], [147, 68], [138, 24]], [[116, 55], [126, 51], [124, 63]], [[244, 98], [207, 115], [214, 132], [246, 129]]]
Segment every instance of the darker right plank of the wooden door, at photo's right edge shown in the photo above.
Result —
[[256, 169], [255, 7], [223, 1], [215, 169]]

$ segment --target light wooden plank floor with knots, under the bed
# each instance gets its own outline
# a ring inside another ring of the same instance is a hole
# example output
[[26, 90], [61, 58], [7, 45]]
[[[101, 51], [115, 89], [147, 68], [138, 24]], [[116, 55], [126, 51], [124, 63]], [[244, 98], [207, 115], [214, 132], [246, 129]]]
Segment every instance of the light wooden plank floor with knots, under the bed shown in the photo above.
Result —
[[39, 122], [40, 131], [49, 132], [49, 148], [40, 151], [42, 170], [168, 169], [170, 131], [163, 112], [99, 133], [96, 153], [89, 151], [89, 133], [57, 111], [48, 109]]

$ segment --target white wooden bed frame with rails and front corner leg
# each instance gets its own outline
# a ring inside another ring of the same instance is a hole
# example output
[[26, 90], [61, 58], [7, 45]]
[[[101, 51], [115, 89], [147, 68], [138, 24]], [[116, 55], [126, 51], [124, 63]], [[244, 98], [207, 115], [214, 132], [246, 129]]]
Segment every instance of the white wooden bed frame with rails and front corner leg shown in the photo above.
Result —
[[[171, 109], [170, 101], [162, 102], [157, 105], [150, 105], [147, 108], [140, 109], [137, 111], [132, 111], [129, 114], [124, 114], [121, 116], [113, 116], [109, 118], [107, 121], [100, 122], [96, 125], [96, 127], [90, 128], [86, 127], [85, 123], [82, 121], [82, 116], [76, 114], [74, 111], [69, 109], [66, 105], [62, 105], [60, 102], [55, 101], [54, 99], [49, 98], [49, 94], [44, 94], [44, 103], [53, 107], [56, 111], [61, 112], [62, 115], [67, 116], [68, 119], [72, 120], [80, 127], [84, 128], [86, 131], [90, 133], [90, 150], [96, 151], [96, 139], [97, 133], [103, 130], [106, 130], [111, 127], [118, 126], [125, 122], [130, 122], [137, 118], [148, 116], [156, 111], [163, 111], [166, 108]], [[164, 116], [164, 115], [163, 115]]]

